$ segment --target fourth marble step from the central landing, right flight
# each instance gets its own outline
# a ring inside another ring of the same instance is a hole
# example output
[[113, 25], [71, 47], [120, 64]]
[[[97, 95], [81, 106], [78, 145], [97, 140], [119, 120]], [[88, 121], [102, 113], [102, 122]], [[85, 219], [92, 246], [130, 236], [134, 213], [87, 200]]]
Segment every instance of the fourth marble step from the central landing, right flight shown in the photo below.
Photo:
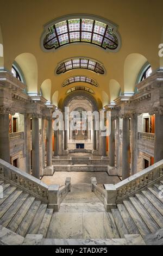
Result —
[[158, 230], [159, 225], [153, 221], [153, 218], [151, 216], [148, 215], [147, 211], [141, 205], [139, 200], [137, 200], [135, 197], [130, 197], [129, 199], [130, 199], [130, 202], [134, 205], [136, 211], [141, 216], [142, 220], [146, 223], [146, 225], [147, 225], [148, 229], [151, 231], [151, 233]]

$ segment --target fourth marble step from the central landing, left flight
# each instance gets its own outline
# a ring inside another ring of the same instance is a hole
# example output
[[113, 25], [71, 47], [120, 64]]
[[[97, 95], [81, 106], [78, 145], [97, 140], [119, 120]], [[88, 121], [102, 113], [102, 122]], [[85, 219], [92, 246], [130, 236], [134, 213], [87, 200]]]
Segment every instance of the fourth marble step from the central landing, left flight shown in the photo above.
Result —
[[20, 210], [18, 210], [17, 214], [14, 218], [12, 218], [12, 221], [9, 223], [8, 228], [14, 232], [16, 232], [17, 228], [23, 221], [23, 218], [26, 216], [30, 206], [34, 202], [34, 197], [29, 197], [27, 200], [22, 204]]

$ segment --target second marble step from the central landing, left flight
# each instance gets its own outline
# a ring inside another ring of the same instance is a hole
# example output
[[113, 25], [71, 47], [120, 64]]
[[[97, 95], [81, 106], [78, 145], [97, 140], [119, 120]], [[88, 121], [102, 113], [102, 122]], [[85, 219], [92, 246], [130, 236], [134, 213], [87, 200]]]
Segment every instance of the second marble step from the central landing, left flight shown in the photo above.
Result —
[[47, 204], [40, 205], [34, 217], [34, 220], [31, 223], [30, 228], [28, 229], [28, 234], [37, 234], [37, 231], [42, 222], [43, 216], [45, 215], [46, 209], [47, 209]]

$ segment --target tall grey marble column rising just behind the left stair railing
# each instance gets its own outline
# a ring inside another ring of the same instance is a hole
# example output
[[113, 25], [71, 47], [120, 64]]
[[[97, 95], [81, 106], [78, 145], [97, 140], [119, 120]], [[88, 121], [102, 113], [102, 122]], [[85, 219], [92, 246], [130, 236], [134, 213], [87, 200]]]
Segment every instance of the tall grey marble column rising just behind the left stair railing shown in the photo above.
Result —
[[39, 117], [32, 118], [32, 175], [40, 179]]

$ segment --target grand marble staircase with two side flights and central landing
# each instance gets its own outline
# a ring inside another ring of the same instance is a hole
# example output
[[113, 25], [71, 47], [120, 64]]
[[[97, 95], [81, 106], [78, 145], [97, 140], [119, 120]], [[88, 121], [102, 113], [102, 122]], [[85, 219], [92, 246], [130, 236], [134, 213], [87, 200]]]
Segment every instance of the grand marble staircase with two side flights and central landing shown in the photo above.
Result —
[[43, 235], [43, 243], [47, 243], [46, 239], [122, 239], [117, 241], [127, 244], [127, 235], [136, 234], [136, 241], [145, 243], [147, 235], [163, 228], [163, 199], [159, 196], [163, 178], [123, 200], [109, 212], [91, 192], [89, 184], [73, 185], [58, 212], [3, 179], [0, 185], [3, 187], [0, 225], [21, 237]]

